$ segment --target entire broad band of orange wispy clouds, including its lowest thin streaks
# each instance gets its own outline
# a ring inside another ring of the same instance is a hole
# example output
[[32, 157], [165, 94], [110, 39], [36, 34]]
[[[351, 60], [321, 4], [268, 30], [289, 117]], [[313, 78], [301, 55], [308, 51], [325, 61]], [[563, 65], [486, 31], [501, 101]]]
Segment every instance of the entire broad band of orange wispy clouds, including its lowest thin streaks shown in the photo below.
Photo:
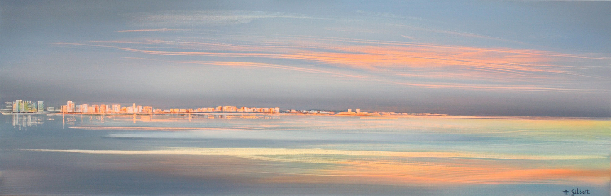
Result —
[[[591, 55], [349, 38], [271, 35], [232, 37], [235, 38], [233, 41], [187, 37], [180, 41], [142, 39], [90, 41], [95, 44], [54, 44], [103, 47], [160, 57], [232, 58], [211, 61], [128, 57], [194, 65], [285, 69], [417, 88], [597, 92], [606, 89], [583, 88], [576, 85], [576, 82], [608, 78], [589, 71], [599, 69], [599, 66], [558, 63], [609, 60], [609, 57]], [[241, 40], [256, 41], [246, 43]], [[283, 61], [285, 64], [269, 61]], [[530, 84], [524, 85], [524, 82]]]

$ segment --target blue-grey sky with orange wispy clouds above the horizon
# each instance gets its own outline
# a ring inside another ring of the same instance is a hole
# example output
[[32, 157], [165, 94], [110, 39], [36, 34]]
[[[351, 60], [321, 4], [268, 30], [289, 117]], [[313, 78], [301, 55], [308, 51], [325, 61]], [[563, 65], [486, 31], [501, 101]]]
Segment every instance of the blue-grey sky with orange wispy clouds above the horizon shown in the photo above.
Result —
[[611, 117], [609, 1], [0, 1], [0, 100]]

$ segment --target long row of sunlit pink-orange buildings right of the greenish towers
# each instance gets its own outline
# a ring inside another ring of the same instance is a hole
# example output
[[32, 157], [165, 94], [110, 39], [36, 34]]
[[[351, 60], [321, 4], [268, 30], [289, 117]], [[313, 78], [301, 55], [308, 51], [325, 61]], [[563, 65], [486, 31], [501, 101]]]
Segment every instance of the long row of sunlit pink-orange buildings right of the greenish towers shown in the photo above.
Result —
[[219, 106], [216, 108], [172, 108], [163, 110], [150, 106], [136, 105], [133, 103], [129, 107], [121, 107], [119, 104], [112, 105], [89, 105], [87, 103], [77, 105], [75, 102], [68, 100], [66, 105], [62, 105], [62, 113], [93, 113], [93, 114], [136, 114], [136, 113], [205, 113], [205, 112], [252, 112], [252, 113], [280, 113], [280, 108], [249, 108], [249, 107], [233, 107]]

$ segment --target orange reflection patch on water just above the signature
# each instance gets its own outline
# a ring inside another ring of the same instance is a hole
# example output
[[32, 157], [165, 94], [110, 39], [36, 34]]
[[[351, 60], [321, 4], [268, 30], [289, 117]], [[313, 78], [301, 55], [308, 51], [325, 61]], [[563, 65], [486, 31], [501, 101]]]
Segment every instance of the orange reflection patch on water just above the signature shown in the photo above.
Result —
[[[456, 159], [456, 162], [463, 160]], [[490, 161], [496, 163], [497, 161]], [[544, 163], [541, 163], [544, 166]], [[312, 172], [312, 171], [310, 171]], [[609, 183], [609, 169], [538, 169], [495, 164], [453, 165], [348, 161], [312, 173], [285, 173], [267, 178], [274, 183], [357, 184], [590, 184]]]

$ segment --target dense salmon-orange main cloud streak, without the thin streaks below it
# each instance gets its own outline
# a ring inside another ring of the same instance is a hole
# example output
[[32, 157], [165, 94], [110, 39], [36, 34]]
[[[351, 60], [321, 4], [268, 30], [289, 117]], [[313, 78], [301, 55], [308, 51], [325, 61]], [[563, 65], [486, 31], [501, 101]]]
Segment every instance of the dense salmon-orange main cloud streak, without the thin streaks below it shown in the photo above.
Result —
[[[306, 60], [359, 69], [390, 69], [401, 71], [404, 68], [425, 68], [450, 66], [463, 67], [475, 72], [500, 73], [510, 75], [533, 75], [536, 72], [580, 75], [571, 66], [545, 64], [552, 57], [581, 58], [574, 55], [551, 54], [545, 51], [486, 49], [458, 46], [434, 46], [408, 44], [408, 46], [329, 46], [329, 44], [299, 43], [285, 47], [276, 46], [236, 46], [214, 43], [185, 43], [155, 41], [156, 44], [169, 44], [175, 49], [197, 49], [213, 52], [157, 51], [133, 47], [115, 47], [123, 51], [141, 52], [157, 55], [191, 55], [213, 57], [259, 57], [286, 60]], [[384, 43], [376, 43], [384, 44]], [[111, 46], [112, 47], [112, 46]], [[285, 49], [287, 48], [288, 49]], [[216, 51], [231, 52], [216, 52]], [[315, 51], [316, 50], [316, 51]], [[335, 52], [320, 52], [334, 50]], [[252, 52], [257, 51], [257, 52]]]

